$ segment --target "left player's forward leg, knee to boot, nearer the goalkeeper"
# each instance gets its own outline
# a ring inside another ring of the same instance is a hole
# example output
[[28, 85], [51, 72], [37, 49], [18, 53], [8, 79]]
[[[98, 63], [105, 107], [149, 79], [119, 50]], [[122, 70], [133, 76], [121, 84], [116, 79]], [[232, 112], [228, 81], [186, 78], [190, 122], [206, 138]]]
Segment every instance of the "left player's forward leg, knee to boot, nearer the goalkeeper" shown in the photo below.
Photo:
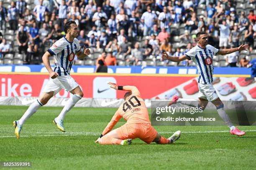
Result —
[[63, 107], [59, 116], [53, 120], [53, 122], [56, 124], [57, 128], [59, 128], [59, 130], [61, 130], [62, 132], [66, 132], [66, 129], [64, 128], [65, 115], [84, 96], [84, 93], [82, 92], [82, 90], [79, 86], [77, 86], [76, 88], [71, 90], [70, 93], [73, 94], [72, 97], [69, 98], [69, 100], [67, 101], [67, 104]]

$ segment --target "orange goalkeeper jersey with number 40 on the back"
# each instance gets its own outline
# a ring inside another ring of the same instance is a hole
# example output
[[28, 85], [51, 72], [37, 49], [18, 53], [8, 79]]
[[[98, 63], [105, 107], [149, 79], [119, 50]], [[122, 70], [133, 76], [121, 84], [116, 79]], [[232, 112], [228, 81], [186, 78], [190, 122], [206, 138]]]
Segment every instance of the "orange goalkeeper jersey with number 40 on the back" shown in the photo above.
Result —
[[137, 88], [134, 88], [132, 95], [120, 105], [102, 135], [109, 133], [122, 117], [127, 121], [126, 124], [150, 123], [147, 107]]

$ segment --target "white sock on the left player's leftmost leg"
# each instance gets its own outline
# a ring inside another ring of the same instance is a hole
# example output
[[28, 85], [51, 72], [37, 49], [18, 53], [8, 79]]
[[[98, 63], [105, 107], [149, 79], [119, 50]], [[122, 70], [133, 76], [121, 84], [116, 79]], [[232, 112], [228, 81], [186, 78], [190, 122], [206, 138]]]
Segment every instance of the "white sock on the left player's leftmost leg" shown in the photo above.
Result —
[[43, 104], [41, 102], [39, 102], [39, 100], [37, 99], [36, 101], [34, 101], [29, 107], [28, 110], [24, 113], [24, 115], [20, 118], [19, 121], [19, 125], [22, 126], [26, 120], [31, 117], [41, 106], [43, 106]]

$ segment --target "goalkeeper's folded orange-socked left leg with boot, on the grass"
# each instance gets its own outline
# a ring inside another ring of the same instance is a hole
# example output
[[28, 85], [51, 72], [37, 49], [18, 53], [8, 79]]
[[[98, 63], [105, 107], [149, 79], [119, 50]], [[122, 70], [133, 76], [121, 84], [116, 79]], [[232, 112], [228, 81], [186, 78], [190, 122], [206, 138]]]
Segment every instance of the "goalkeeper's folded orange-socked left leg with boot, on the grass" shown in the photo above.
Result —
[[100, 144], [118, 144], [118, 145], [130, 145], [132, 143], [131, 139], [121, 140], [118, 133], [115, 130], [110, 131], [106, 135], [98, 138], [95, 143]]

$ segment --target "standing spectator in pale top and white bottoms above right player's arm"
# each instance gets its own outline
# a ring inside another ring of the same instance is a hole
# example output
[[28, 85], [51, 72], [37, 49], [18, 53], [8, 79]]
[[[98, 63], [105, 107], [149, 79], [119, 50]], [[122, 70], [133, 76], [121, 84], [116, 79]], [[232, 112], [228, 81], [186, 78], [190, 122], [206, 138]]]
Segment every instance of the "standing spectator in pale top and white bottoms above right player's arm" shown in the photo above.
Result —
[[226, 49], [228, 47], [228, 38], [229, 38], [229, 25], [227, 24], [226, 20], [222, 20], [222, 24], [218, 24], [219, 20], [216, 22], [216, 27], [219, 27], [220, 29], [220, 49]]

